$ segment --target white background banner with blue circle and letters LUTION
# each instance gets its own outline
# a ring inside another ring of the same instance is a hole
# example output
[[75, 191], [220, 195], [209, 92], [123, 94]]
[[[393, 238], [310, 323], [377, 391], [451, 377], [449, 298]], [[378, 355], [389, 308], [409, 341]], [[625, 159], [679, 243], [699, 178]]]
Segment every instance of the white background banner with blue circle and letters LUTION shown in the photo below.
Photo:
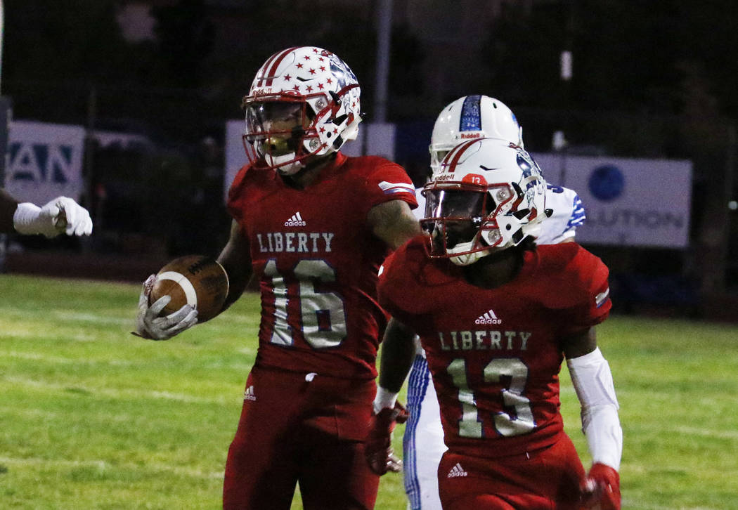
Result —
[[579, 194], [582, 244], [686, 248], [692, 162], [534, 154], [546, 180]]

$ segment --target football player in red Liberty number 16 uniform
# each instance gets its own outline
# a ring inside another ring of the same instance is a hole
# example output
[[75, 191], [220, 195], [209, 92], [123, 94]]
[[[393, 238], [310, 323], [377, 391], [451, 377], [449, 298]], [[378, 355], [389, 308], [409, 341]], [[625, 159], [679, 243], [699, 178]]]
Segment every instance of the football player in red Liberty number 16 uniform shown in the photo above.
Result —
[[[305, 509], [372, 509], [379, 476], [364, 440], [387, 321], [377, 273], [390, 249], [420, 233], [413, 183], [387, 159], [339, 151], [356, 137], [359, 83], [325, 49], [272, 55], [244, 109], [250, 162], [230, 188], [218, 261], [230, 279], [226, 306], [253, 275], [262, 309], [224, 508], [287, 510], [299, 483]], [[142, 292], [139, 334], [165, 339], [196, 323], [189, 306], [156, 317], [166, 303], [149, 307]]]

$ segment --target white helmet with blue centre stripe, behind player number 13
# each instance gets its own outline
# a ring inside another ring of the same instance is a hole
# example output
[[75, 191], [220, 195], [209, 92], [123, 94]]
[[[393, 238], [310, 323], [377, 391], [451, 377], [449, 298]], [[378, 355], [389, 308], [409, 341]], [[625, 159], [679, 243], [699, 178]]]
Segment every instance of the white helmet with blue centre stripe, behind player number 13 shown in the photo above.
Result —
[[523, 147], [523, 128], [505, 103], [494, 97], [459, 97], [438, 115], [430, 138], [430, 168], [436, 173], [444, 156], [461, 142], [501, 138]]

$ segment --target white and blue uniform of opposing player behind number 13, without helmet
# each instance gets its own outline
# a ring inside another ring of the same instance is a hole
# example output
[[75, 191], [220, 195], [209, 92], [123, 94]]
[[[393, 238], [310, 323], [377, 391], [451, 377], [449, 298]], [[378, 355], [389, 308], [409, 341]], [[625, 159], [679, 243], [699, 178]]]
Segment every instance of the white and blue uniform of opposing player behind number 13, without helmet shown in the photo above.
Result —
[[[425, 197], [415, 190], [418, 208], [413, 210], [420, 220], [425, 215]], [[584, 223], [584, 207], [574, 190], [548, 185], [546, 209], [554, 211], [541, 223], [537, 244], [557, 244], [571, 241], [576, 227]], [[407, 384], [407, 410], [410, 419], [403, 438], [404, 485], [408, 510], [441, 510], [438, 497], [438, 463], [446, 451], [441, 410], [420, 339]]]

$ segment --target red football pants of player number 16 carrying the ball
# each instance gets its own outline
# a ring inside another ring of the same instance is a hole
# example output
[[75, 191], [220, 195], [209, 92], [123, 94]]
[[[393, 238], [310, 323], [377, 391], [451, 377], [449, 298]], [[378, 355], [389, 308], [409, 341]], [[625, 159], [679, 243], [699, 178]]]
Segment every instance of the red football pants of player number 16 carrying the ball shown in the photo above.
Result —
[[228, 449], [223, 508], [373, 509], [379, 477], [364, 456], [375, 393], [357, 381], [253, 368]]

